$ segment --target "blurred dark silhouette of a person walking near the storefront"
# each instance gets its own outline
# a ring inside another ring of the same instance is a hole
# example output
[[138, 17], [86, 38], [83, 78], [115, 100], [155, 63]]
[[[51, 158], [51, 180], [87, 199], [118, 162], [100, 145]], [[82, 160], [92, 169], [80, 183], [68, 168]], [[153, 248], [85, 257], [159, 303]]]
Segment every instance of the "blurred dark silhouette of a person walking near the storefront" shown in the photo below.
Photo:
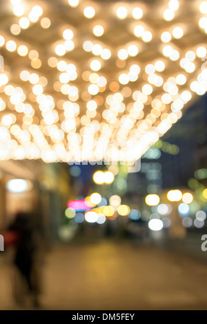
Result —
[[31, 223], [31, 215], [19, 212], [14, 222], [10, 225], [9, 230], [16, 232], [18, 236], [14, 254], [14, 265], [16, 265], [22, 279], [27, 284], [28, 292], [32, 296], [33, 305], [37, 307], [39, 305], [37, 299], [38, 285], [33, 274], [37, 242], [35, 241], [35, 228]]

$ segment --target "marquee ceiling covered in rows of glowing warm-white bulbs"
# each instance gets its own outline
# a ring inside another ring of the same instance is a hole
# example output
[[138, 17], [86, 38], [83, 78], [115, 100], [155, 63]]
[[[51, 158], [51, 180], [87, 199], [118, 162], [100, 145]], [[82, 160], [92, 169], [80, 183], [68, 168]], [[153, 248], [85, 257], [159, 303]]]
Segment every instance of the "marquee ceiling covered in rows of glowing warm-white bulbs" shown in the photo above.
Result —
[[1, 160], [134, 161], [206, 92], [207, 1], [0, 8]]

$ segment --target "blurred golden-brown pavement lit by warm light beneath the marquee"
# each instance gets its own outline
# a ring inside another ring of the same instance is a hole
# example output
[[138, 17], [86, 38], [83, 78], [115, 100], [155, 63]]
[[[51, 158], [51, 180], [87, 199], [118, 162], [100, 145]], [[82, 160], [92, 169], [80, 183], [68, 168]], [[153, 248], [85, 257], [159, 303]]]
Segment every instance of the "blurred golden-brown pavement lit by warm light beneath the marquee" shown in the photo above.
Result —
[[[201, 310], [207, 303], [206, 274], [206, 263], [159, 247], [112, 241], [57, 247], [44, 265], [42, 307]], [[16, 309], [9, 276], [1, 267], [0, 305], [6, 310]]]

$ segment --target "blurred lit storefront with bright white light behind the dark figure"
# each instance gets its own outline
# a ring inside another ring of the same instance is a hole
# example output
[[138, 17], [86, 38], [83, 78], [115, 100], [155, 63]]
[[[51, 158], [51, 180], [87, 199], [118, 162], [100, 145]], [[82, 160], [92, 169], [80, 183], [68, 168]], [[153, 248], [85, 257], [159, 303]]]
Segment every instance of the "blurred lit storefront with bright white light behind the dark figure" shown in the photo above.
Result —
[[0, 228], [5, 230], [17, 212], [35, 215], [51, 239], [57, 239], [63, 210], [70, 197], [67, 165], [38, 161], [1, 161]]

